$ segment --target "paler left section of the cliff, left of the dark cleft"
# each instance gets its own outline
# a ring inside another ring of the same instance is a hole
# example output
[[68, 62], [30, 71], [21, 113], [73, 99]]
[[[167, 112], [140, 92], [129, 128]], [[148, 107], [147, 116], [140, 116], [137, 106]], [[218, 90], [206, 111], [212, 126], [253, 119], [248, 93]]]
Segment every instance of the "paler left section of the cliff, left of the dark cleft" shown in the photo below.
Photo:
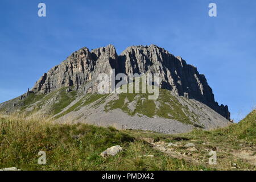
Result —
[[34, 92], [49, 93], [64, 86], [75, 86], [83, 92], [97, 92], [97, 76], [118, 69], [118, 56], [113, 46], [81, 48], [56, 65], [36, 82]]

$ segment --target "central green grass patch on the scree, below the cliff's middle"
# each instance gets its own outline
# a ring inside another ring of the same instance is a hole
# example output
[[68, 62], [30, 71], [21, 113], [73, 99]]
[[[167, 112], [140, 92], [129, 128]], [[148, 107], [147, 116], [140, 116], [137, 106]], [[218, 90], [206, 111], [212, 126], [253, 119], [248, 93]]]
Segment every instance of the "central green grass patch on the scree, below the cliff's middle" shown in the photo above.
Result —
[[[170, 91], [159, 89], [157, 100], [148, 100], [150, 94], [118, 94], [119, 99], [110, 101], [105, 106], [105, 111], [122, 109], [129, 115], [143, 114], [147, 117], [158, 116], [161, 118], [175, 119], [182, 123], [193, 124], [188, 116], [191, 116], [194, 122], [197, 122], [196, 114], [191, 113], [187, 106], [180, 104]], [[159, 106], [156, 104], [159, 103]], [[129, 104], [133, 105], [134, 110], [129, 109]]]

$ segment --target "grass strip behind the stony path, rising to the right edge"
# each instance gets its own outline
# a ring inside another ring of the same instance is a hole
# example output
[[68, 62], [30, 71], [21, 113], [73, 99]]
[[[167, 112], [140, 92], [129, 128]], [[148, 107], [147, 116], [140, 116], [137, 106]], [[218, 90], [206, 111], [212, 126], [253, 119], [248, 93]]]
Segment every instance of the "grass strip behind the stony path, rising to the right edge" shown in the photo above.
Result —
[[137, 130], [127, 130], [127, 133], [133, 137], [152, 137], [155, 140], [166, 140], [167, 142], [174, 142], [174, 138], [180, 138], [181, 140], [195, 139], [199, 143], [211, 142], [218, 146], [223, 144], [223, 147], [232, 146], [234, 148], [241, 148], [242, 145], [239, 145], [241, 143], [249, 144], [249, 146], [256, 144], [256, 110], [248, 114], [239, 123], [211, 131], [195, 129], [190, 133], [176, 135], [152, 133], [149, 131], [138, 132]]

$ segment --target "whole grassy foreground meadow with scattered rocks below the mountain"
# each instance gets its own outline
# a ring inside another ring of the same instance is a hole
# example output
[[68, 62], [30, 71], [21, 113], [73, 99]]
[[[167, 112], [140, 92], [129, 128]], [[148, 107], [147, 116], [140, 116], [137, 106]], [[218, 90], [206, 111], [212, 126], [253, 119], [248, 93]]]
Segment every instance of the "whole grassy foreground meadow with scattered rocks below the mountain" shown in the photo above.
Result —
[[[0, 115], [0, 168], [255, 170], [251, 163], [253, 160], [250, 160], [256, 155], [255, 119], [256, 110], [240, 123], [226, 129], [195, 130], [188, 134], [166, 135], [150, 131], [118, 131], [112, 127], [106, 129], [84, 124], [59, 125], [46, 118]], [[155, 143], [145, 142], [148, 138]], [[161, 149], [161, 146], [168, 142], [177, 146]], [[188, 142], [195, 144], [196, 151], [188, 151], [188, 148], [184, 147]], [[115, 145], [120, 145], [124, 151], [109, 158], [100, 156], [106, 148]], [[208, 164], [210, 150], [217, 152], [217, 165]], [[38, 164], [39, 151], [46, 152], [46, 165]]]

